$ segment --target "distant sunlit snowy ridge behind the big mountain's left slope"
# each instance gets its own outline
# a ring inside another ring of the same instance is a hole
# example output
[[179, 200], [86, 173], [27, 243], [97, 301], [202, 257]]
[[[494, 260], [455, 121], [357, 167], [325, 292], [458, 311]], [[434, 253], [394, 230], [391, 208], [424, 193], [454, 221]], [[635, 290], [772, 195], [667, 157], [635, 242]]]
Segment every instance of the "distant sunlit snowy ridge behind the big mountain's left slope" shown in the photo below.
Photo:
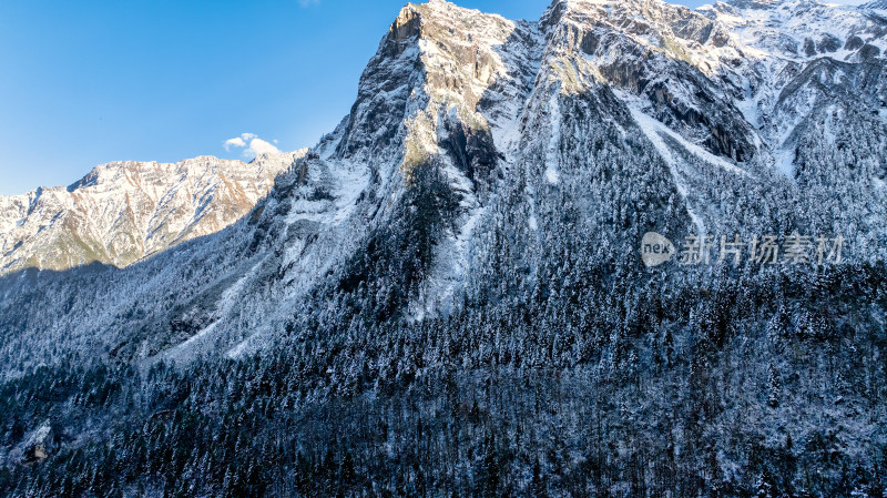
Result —
[[307, 150], [242, 161], [114, 162], [68, 187], [0, 196], [0, 274], [128, 266], [246, 215]]

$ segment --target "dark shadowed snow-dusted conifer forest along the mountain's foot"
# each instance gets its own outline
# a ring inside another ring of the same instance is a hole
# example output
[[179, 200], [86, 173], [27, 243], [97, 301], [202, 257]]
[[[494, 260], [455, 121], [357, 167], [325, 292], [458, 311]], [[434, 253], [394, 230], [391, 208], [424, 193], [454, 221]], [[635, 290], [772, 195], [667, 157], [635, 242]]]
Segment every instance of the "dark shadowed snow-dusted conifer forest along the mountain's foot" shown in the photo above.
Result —
[[63, 449], [0, 489], [881, 496], [884, 266], [715, 282], [621, 302], [568, 272], [421, 324], [318, 309], [243, 360], [38, 368], [2, 385], [3, 445], [48, 420]]

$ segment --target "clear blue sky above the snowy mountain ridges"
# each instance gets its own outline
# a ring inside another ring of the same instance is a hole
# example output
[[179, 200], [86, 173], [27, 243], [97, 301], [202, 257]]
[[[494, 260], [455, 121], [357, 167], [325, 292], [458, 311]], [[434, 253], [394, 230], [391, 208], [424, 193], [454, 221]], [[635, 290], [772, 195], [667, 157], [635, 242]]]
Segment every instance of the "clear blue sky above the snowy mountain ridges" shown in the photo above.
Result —
[[[244, 133], [313, 145], [348, 112], [404, 3], [4, 0], [0, 194], [110, 161], [241, 157], [225, 141]], [[457, 3], [538, 19], [549, 0]]]

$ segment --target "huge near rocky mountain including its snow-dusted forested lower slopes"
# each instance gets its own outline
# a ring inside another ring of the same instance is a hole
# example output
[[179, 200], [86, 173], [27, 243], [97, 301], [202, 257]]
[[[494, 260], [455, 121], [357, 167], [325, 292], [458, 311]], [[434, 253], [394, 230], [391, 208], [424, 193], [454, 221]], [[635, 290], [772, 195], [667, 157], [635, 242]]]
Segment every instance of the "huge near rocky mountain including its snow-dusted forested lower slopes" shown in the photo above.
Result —
[[[125, 268], [0, 278], [6, 392], [110, 378], [60, 395], [92, 445], [60, 487], [132, 459], [131, 495], [251, 495], [268, 467], [281, 496], [879, 496], [881, 10], [408, 4], [246, 216]], [[646, 268], [648, 232], [845, 244], [731, 265], [718, 237], [711, 265]], [[9, 455], [33, 456], [33, 418]]]

